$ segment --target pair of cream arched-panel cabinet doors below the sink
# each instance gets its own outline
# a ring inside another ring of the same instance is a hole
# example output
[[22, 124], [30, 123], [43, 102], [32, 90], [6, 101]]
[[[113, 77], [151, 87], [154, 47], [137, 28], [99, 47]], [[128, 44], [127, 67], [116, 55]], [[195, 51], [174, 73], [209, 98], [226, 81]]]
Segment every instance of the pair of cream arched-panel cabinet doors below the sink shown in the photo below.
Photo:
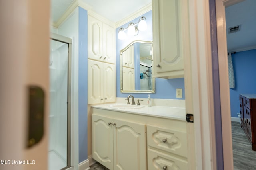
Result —
[[146, 125], [92, 115], [92, 158], [110, 170], [146, 170]]

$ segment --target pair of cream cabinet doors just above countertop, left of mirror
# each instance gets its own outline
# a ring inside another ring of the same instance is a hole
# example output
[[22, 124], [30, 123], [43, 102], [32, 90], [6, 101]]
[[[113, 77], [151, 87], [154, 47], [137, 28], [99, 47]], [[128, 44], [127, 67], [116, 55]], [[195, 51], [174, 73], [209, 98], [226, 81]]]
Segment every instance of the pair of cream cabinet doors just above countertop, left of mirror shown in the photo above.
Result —
[[116, 101], [115, 64], [88, 60], [88, 104]]

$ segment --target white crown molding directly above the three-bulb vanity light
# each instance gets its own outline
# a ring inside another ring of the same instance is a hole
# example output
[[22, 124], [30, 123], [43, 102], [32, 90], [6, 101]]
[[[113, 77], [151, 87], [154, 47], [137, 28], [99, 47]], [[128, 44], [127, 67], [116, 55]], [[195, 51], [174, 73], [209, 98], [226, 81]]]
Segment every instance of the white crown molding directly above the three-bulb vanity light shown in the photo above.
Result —
[[149, 12], [150, 10], [152, 10], [152, 3], [144, 6], [143, 8], [127, 16], [126, 18], [116, 22], [116, 28], [128, 23], [131, 20], [134, 20], [135, 18], [138, 18], [139, 16], [145, 14], [146, 12]]

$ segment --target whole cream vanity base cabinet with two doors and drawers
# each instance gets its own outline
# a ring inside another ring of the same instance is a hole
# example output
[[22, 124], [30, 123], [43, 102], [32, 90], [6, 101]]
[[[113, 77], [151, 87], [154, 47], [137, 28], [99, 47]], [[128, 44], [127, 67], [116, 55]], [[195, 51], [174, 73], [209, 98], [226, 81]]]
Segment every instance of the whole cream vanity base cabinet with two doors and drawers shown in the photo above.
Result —
[[185, 119], [100, 107], [92, 109], [93, 159], [110, 170], [188, 170]]

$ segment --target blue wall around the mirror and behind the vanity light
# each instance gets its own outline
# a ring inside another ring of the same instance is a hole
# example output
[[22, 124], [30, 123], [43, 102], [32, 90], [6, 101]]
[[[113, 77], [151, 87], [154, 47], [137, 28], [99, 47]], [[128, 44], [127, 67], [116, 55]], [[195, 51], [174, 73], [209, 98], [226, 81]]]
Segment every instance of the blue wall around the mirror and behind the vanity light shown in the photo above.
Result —
[[[129, 43], [134, 40], [144, 40], [152, 41], [152, 11], [149, 11], [142, 16], [146, 17], [146, 22], [148, 28], [146, 31], [140, 31], [137, 36], [127, 36], [126, 39], [118, 39], [118, 31], [121, 27], [127, 28], [130, 22], [137, 23], [139, 21], [138, 17], [128, 23], [118, 27], [116, 29], [116, 96], [117, 97], [127, 97], [127, 93], [120, 92], [120, 50], [126, 47]], [[125, 31], [126, 32], [126, 31]], [[176, 98], [176, 88], [182, 88], [182, 98]], [[185, 88], [184, 88], [184, 78], [175, 79], [162, 79], [156, 78], [156, 93], [151, 94], [151, 98], [162, 98], [162, 99], [185, 99]], [[132, 94], [132, 93], [131, 93]], [[147, 94], [133, 94], [136, 98], [147, 98]]]

